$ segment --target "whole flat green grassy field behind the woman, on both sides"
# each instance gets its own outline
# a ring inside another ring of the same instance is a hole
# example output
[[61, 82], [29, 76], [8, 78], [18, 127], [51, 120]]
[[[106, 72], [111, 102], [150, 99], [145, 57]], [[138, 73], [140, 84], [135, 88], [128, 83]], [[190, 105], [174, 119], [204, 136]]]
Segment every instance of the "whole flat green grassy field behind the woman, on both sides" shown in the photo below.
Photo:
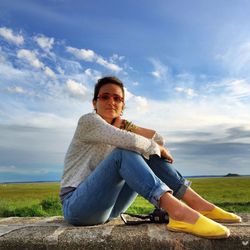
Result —
[[[204, 198], [234, 212], [250, 212], [250, 177], [193, 178]], [[59, 183], [0, 184], [0, 217], [62, 215]], [[138, 196], [130, 213], [149, 213], [153, 206]]]

